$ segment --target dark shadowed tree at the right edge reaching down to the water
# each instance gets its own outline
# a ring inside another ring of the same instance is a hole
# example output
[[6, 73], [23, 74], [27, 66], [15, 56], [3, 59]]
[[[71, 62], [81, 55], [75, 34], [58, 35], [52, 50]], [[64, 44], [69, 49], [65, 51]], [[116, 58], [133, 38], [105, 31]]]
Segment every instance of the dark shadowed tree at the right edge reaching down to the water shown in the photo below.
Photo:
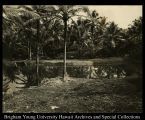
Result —
[[[142, 77], [142, 62], [143, 62], [143, 39], [142, 39], [142, 17], [135, 19], [127, 29], [127, 74], [137, 74]], [[142, 79], [138, 79], [139, 80]]]

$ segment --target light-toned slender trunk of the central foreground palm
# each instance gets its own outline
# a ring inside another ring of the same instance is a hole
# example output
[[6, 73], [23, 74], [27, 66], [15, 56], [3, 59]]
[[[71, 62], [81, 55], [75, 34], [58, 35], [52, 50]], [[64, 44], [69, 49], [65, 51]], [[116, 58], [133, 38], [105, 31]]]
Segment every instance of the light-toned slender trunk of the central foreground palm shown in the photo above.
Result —
[[67, 37], [67, 20], [64, 20], [64, 71], [63, 71], [63, 80], [66, 80], [66, 37]]

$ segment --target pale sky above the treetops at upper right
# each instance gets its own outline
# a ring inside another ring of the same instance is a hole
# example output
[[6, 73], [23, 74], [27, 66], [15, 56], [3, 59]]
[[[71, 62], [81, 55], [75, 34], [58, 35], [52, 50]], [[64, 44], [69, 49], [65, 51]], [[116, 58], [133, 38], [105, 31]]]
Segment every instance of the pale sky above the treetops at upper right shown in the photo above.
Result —
[[121, 28], [127, 28], [133, 20], [142, 16], [142, 5], [93, 5], [90, 10], [96, 10], [100, 16], [107, 17], [108, 21], [114, 21]]

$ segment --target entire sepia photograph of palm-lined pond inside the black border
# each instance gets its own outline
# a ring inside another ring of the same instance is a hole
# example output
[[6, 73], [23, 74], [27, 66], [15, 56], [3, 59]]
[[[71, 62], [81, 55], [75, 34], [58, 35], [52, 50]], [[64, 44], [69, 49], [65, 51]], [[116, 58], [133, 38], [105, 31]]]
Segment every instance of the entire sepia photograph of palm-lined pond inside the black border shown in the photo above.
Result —
[[142, 5], [3, 5], [3, 113], [142, 113]]

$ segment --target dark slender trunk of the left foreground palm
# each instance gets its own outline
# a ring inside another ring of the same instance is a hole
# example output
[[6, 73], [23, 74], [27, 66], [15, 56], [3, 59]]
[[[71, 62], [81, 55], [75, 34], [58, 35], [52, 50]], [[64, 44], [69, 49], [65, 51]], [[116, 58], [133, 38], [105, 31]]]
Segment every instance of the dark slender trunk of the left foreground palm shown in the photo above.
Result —
[[40, 23], [37, 20], [37, 53], [36, 53], [36, 81], [39, 85], [39, 31], [40, 31]]

